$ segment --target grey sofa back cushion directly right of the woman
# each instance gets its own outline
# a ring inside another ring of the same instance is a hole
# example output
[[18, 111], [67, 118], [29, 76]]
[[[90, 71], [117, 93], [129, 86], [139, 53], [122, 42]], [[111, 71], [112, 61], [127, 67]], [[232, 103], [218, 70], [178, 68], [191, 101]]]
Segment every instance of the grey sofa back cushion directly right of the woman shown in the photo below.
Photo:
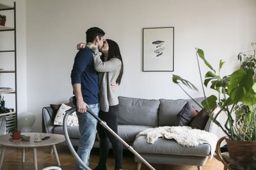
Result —
[[118, 97], [118, 124], [157, 127], [159, 100]]

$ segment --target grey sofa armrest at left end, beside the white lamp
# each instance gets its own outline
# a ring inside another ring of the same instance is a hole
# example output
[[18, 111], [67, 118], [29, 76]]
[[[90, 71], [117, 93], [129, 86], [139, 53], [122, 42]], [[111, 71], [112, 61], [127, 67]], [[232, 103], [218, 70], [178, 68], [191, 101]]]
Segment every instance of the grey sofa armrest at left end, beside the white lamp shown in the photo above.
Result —
[[54, 122], [54, 113], [50, 106], [44, 107], [42, 109], [42, 130], [46, 133], [53, 133], [53, 128], [55, 125]]

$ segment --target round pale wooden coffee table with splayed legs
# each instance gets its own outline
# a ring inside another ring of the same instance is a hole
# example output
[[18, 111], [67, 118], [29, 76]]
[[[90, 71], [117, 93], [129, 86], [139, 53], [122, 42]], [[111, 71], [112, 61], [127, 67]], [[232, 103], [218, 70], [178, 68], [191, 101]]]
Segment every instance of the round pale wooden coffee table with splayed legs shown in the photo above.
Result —
[[[58, 166], [60, 166], [60, 160], [58, 157], [58, 152], [56, 150], [56, 144], [61, 143], [65, 141], [65, 136], [61, 134], [47, 134], [47, 133], [34, 133], [34, 132], [27, 132], [27, 133], [21, 133], [25, 136], [30, 136], [30, 141], [10, 141], [10, 134], [4, 134], [0, 136], [0, 145], [3, 145], [3, 150], [1, 154], [1, 160], [0, 160], [0, 169], [3, 165], [4, 160], [4, 152], [6, 150], [6, 147], [19, 147], [22, 148], [22, 162], [25, 162], [25, 148], [33, 148], [33, 160], [34, 160], [34, 167], [35, 170], [37, 170], [37, 158], [36, 158], [36, 148], [41, 146], [52, 146], [54, 155], [56, 157], [56, 160], [58, 162]], [[46, 139], [45, 141], [41, 142], [35, 142], [35, 134], [42, 134], [42, 138], [45, 136], [50, 136], [49, 139]]]

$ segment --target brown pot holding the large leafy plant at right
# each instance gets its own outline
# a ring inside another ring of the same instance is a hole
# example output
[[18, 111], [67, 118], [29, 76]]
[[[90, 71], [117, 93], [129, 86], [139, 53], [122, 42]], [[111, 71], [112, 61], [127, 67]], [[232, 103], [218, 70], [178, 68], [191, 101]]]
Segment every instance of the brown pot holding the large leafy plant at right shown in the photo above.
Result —
[[230, 167], [234, 169], [256, 169], [256, 142], [233, 141], [225, 139], [228, 145], [228, 153], [231, 160]]

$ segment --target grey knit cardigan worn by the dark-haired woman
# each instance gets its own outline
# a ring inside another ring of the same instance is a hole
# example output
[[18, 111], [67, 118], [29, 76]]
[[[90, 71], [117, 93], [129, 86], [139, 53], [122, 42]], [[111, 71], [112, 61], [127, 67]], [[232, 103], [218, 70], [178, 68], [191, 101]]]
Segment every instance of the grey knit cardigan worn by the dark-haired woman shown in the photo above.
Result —
[[122, 62], [120, 59], [112, 58], [108, 61], [102, 61], [100, 59], [101, 52], [99, 52], [96, 46], [91, 48], [93, 52], [94, 68], [99, 72], [99, 104], [100, 110], [108, 112], [109, 106], [115, 106], [118, 104], [118, 96], [115, 92], [111, 91], [110, 86], [116, 83], [118, 78]]

